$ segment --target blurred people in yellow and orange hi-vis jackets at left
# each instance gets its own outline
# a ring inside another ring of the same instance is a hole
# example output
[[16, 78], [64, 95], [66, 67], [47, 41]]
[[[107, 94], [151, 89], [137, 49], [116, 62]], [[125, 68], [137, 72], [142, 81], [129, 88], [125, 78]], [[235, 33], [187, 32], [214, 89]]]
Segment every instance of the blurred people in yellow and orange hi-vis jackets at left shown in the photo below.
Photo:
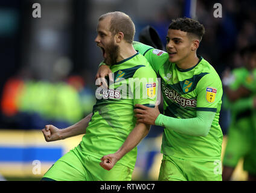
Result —
[[94, 92], [78, 75], [62, 81], [10, 77], [1, 100], [2, 128], [42, 129], [46, 124], [68, 127], [92, 112]]

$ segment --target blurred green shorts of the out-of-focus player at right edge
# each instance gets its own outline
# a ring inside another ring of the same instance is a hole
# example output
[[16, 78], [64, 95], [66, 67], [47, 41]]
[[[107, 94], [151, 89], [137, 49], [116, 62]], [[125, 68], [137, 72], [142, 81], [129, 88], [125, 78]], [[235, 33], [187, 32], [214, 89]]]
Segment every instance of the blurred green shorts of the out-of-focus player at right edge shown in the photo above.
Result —
[[228, 131], [228, 142], [223, 157], [223, 165], [235, 168], [241, 158], [247, 156], [254, 140], [252, 122], [250, 118], [239, 119]]

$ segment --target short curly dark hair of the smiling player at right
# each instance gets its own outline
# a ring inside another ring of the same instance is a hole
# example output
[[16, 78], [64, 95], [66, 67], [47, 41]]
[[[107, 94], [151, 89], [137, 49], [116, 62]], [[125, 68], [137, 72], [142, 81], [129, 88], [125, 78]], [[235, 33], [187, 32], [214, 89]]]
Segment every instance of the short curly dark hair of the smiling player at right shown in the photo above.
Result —
[[168, 29], [185, 31], [190, 35], [198, 37], [199, 40], [202, 40], [203, 34], [205, 34], [205, 27], [198, 21], [188, 17], [173, 19]]

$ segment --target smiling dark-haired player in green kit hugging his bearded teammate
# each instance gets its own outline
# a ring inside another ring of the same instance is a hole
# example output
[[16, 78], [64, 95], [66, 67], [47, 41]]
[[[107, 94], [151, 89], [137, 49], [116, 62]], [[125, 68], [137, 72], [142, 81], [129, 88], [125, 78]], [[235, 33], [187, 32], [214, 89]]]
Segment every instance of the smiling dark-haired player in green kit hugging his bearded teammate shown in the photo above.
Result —
[[[135, 106], [138, 122], [165, 127], [159, 180], [222, 180], [222, 81], [196, 53], [204, 33], [199, 22], [178, 18], [168, 28], [167, 52], [133, 43], [161, 77], [164, 115], [158, 108]], [[109, 72], [101, 65], [97, 74]]]

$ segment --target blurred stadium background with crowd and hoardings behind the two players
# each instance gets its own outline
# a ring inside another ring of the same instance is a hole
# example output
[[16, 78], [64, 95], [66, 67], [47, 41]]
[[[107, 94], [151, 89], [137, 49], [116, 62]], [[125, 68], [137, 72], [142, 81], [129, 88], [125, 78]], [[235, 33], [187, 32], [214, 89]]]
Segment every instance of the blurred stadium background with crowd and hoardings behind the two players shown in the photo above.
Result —
[[[32, 16], [34, 3], [40, 4], [40, 18]], [[222, 17], [214, 17], [215, 3], [222, 5]], [[206, 28], [198, 54], [222, 77], [226, 68], [242, 65], [239, 49], [255, 41], [255, 7], [248, 0], [0, 1], [0, 179], [39, 180], [82, 139], [46, 143], [41, 129], [45, 124], [67, 127], [91, 112], [102, 60], [94, 42], [98, 16], [124, 11], [135, 22], [135, 40], [152, 25], [165, 45], [171, 19], [190, 15]], [[220, 125], [224, 152], [228, 111], [220, 113]], [[138, 145], [133, 180], [157, 180], [161, 134], [162, 128], [153, 128]], [[233, 180], [246, 180], [242, 162]]]

